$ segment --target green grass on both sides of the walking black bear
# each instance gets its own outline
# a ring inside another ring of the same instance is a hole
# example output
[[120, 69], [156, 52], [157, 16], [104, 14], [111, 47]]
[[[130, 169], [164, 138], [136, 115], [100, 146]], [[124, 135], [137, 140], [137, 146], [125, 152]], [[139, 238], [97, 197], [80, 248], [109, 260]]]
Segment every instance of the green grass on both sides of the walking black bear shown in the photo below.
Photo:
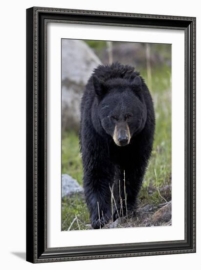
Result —
[[[139, 194], [139, 204], [158, 205], [171, 200], [171, 90], [169, 66], [152, 70], [152, 97], [156, 113], [156, 132], [152, 157]], [[141, 75], [147, 82], [146, 70]], [[155, 173], [156, 172], [156, 173]], [[72, 131], [63, 134], [62, 173], [67, 173], [82, 186], [82, 162], [78, 135]], [[169, 186], [168, 192], [158, 190]], [[88, 229], [90, 220], [82, 197], [73, 196], [62, 201], [62, 230]], [[78, 225], [79, 224], [79, 225]]]

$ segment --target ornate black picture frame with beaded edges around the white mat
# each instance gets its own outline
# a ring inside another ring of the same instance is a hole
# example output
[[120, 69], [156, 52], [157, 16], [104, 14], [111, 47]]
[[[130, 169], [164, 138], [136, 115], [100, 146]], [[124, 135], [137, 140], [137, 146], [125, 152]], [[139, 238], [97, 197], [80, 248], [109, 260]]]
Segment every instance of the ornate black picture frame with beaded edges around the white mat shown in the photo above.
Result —
[[[185, 240], [47, 248], [46, 26], [48, 22], [185, 31]], [[61, 8], [26, 10], [26, 260], [32, 263], [196, 252], [196, 18]]]

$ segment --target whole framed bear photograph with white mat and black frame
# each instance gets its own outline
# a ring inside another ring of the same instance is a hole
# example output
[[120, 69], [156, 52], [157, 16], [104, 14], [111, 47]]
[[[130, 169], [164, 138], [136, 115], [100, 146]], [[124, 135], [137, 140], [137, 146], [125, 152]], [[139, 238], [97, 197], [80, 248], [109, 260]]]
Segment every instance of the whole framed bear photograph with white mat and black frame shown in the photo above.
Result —
[[196, 252], [196, 18], [26, 10], [26, 260]]

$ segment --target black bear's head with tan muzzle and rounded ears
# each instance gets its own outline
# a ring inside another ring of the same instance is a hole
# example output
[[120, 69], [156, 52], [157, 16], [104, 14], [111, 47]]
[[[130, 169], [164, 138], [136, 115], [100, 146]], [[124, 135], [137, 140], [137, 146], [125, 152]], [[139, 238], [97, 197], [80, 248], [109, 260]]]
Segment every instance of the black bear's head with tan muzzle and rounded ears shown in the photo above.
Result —
[[96, 123], [98, 121], [103, 132], [112, 136], [116, 145], [128, 145], [144, 128], [147, 119], [140, 77], [132, 81], [117, 78], [105, 82], [94, 75], [93, 86], [97, 98]]

